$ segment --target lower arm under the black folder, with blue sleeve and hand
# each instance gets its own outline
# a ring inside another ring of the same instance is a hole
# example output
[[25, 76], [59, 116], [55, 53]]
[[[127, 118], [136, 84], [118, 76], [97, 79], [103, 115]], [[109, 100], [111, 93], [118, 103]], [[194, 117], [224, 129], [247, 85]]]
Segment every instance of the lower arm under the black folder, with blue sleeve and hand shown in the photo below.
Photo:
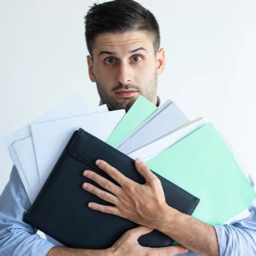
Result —
[[171, 255], [187, 250], [183, 246], [156, 249], [140, 246], [137, 240], [143, 234], [151, 232], [148, 227], [129, 230], [110, 249], [71, 249], [54, 246], [44, 238], [40, 238], [34, 227], [23, 222], [30, 207], [29, 197], [14, 166], [10, 181], [0, 196], [0, 255]]

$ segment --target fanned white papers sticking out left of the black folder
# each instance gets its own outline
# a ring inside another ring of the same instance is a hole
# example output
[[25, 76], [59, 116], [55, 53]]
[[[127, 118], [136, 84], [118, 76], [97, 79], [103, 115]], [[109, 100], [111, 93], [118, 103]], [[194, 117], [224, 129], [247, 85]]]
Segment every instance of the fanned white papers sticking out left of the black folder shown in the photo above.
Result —
[[31, 203], [34, 203], [76, 129], [81, 127], [106, 140], [124, 115], [124, 110], [109, 112], [106, 105], [90, 109], [80, 95], [75, 95], [8, 136], [4, 146]]

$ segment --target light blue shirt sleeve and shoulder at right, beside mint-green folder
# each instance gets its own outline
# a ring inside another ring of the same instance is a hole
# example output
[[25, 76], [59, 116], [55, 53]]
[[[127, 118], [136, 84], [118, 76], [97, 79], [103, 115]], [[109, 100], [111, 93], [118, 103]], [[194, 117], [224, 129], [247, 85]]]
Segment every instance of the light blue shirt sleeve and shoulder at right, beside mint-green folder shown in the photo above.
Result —
[[[243, 170], [246, 178], [255, 189], [255, 182], [244, 166], [238, 154], [233, 151], [230, 143], [221, 135], [236, 162]], [[256, 200], [249, 207], [250, 216], [232, 225], [214, 225], [217, 233], [220, 256], [251, 256], [256, 255]]]

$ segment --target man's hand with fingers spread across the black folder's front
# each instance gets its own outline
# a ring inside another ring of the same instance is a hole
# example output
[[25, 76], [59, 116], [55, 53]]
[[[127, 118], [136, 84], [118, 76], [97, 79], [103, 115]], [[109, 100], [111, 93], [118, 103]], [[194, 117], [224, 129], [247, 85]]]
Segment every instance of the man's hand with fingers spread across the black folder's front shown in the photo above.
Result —
[[[121, 187], [91, 170], [85, 170], [83, 172], [84, 176], [95, 181], [109, 192], [105, 192], [89, 183], [84, 183], [83, 189], [115, 205], [102, 206], [90, 202], [89, 207], [96, 211], [129, 219], [146, 227], [157, 228], [159, 222], [163, 220], [165, 208], [168, 207], [170, 211], [170, 207], [165, 203], [165, 194], [159, 178], [149, 170], [146, 164], [141, 162], [140, 159], [135, 160], [135, 166], [138, 172], [145, 178], [146, 184], [138, 184], [132, 181], [103, 160], [97, 160], [96, 164], [120, 184]], [[176, 210], [173, 209], [173, 211]]]

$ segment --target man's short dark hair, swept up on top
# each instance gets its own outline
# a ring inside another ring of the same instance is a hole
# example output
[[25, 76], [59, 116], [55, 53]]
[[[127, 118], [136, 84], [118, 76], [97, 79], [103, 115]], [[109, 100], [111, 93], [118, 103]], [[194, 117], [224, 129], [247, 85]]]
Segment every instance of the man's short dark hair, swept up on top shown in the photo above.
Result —
[[86, 25], [86, 45], [92, 56], [94, 40], [105, 32], [124, 33], [146, 31], [153, 39], [154, 52], [160, 45], [159, 25], [154, 15], [132, 0], [95, 3], [84, 17]]

